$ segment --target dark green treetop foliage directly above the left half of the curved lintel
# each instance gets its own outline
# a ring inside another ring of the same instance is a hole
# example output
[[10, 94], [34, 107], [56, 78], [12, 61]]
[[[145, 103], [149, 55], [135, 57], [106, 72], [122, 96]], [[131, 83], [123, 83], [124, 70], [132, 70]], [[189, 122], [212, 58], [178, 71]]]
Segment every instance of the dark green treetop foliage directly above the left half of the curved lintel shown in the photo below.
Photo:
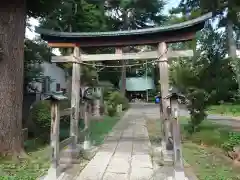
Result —
[[104, 11], [86, 0], [62, 0], [52, 12], [41, 19], [41, 27], [57, 31], [104, 31]]

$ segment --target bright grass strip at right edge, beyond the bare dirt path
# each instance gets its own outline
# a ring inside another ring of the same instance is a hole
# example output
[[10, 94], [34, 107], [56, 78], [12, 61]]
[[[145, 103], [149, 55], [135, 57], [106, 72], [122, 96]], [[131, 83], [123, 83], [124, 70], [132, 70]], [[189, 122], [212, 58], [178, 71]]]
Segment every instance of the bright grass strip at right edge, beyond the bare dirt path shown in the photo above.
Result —
[[229, 116], [240, 116], [240, 104], [222, 104], [210, 106], [209, 114], [222, 114]]

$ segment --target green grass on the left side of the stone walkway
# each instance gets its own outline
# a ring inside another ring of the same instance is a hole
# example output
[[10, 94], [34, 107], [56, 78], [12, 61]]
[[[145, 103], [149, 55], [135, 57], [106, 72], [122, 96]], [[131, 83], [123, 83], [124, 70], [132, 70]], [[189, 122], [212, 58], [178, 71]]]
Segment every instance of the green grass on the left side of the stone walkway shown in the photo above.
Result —
[[[120, 117], [104, 117], [102, 120], [91, 122], [92, 141], [97, 145], [101, 144], [111, 131]], [[80, 129], [83, 128], [83, 122], [79, 123]], [[69, 137], [69, 125], [61, 124], [60, 138]], [[19, 162], [7, 159], [0, 159], [0, 180], [35, 180], [46, 173], [49, 168], [50, 148], [44, 145], [40, 140], [28, 140], [25, 142], [25, 149], [29, 155], [28, 158]]]

